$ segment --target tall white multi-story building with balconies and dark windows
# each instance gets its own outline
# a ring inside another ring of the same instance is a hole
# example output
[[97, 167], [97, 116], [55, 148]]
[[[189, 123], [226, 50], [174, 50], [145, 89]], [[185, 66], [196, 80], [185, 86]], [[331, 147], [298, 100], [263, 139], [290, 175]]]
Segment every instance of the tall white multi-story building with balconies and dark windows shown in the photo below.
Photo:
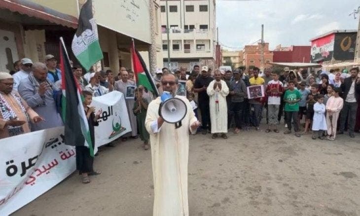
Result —
[[215, 0], [160, 0], [165, 67], [168, 67], [169, 50], [171, 69], [182, 66], [191, 71], [194, 65], [215, 68], [215, 6]]

